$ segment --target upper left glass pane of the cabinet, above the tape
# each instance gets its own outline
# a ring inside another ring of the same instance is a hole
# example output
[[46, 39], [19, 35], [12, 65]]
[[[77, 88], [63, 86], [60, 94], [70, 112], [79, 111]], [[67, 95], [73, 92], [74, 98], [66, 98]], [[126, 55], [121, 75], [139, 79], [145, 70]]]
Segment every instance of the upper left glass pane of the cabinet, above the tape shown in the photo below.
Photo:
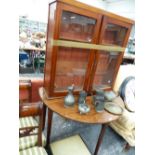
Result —
[[63, 11], [60, 39], [92, 42], [96, 20], [69, 11]]

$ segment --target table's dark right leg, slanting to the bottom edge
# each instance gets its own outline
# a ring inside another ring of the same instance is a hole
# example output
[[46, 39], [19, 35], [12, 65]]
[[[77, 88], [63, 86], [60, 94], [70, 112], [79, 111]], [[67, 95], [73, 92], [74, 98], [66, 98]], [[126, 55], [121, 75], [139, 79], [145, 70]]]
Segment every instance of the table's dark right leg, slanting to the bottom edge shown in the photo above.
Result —
[[98, 138], [98, 141], [97, 141], [97, 144], [96, 144], [94, 155], [97, 155], [97, 153], [99, 151], [99, 148], [100, 148], [100, 145], [102, 143], [102, 139], [103, 139], [103, 136], [104, 136], [104, 133], [105, 133], [106, 126], [107, 125], [102, 124], [102, 128], [101, 128], [100, 135], [99, 135], [99, 138]]

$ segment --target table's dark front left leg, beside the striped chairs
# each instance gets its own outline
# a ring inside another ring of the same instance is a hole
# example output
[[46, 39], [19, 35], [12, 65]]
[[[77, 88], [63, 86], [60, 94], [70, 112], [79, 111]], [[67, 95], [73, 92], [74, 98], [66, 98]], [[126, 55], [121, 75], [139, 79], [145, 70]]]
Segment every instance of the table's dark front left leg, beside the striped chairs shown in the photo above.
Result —
[[48, 108], [48, 124], [47, 124], [47, 143], [46, 147], [48, 147], [50, 143], [50, 135], [51, 135], [51, 127], [52, 127], [52, 118], [53, 118], [53, 111]]

